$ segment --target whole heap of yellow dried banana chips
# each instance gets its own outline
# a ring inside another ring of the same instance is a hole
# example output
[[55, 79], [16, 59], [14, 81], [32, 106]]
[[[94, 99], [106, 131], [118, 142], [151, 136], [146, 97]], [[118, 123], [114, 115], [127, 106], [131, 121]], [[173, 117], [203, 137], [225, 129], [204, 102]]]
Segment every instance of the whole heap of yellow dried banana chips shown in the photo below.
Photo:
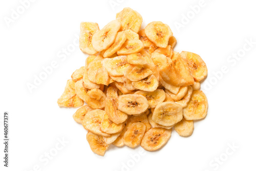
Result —
[[90, 56], [57, 103], [80, 107], [73, 118], [88, 131], [87, 141], [100, 156], [111, 144], [156, 151], [172, 130], [190, 136], [194, 120], [207, 114], [200, 90], [207, 76], [203, 59], [174, 51], [177, 40], [167, 24], [141, 24], [137, 11], [124, 8], [101, 29], [92, 22], [80, 25], [79, 47]]

